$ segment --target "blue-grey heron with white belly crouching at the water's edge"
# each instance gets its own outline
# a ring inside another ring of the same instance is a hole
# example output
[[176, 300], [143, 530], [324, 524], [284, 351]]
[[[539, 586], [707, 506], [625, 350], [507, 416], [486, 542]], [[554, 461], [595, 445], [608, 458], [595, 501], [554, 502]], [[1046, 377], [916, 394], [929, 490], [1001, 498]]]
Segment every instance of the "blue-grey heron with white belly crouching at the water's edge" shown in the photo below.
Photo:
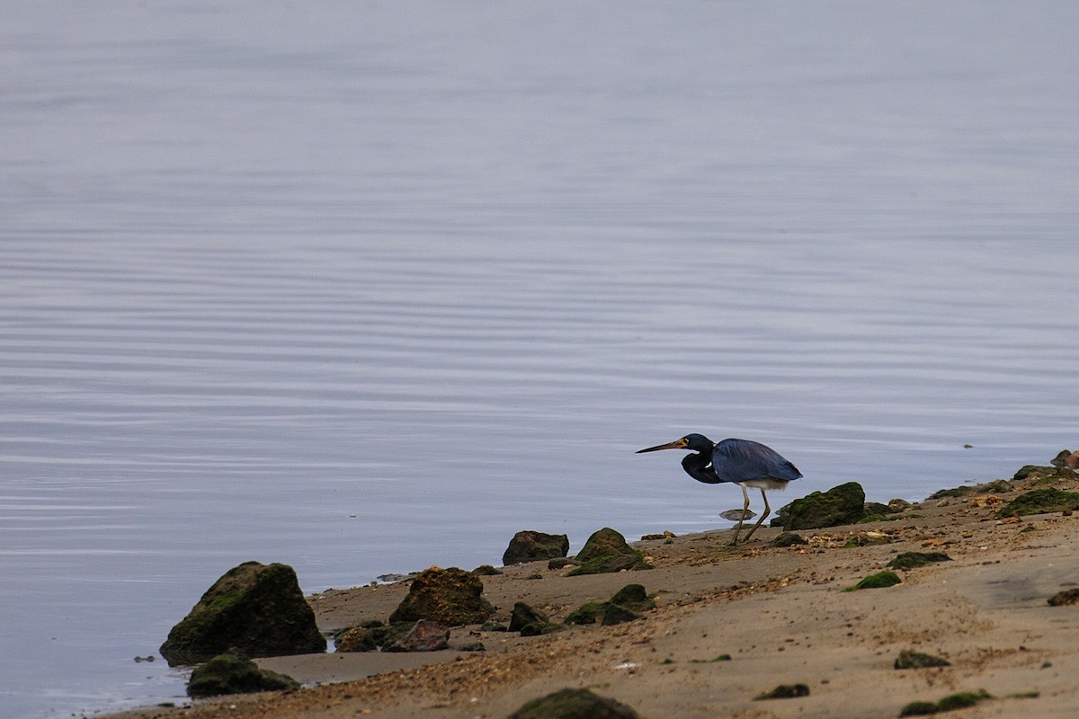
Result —
[[753, 440], [723, 440], [713, 444], [704, 434], [686, 434], [682, 439], [667, 444], [639, 450], [637, 454], [659, 450], [692, 450], [696, 454], [682, 458], [682, 469], [685, 470], [686, 474], [705, 484], [734, 482], [742, 488], [742, 497], [746, 502], [742, 504], [742, 515], [738, 520], [738, 526], [735, 527], [735, 538], [730, 540], [732, 544], [738, 542], [738, 533], [741, 531], [742, 522], [749, 511], [749, 493], [746, 492], [746, 487], [756, 487], [764, 498], [764, 514], [746, 535], [743, 541], [748, 542], [756, 528], [771, 513], [765, 489], [783, 489], [788, 482], [802, 476], [798, 468], [784, 459], [782, 455]]

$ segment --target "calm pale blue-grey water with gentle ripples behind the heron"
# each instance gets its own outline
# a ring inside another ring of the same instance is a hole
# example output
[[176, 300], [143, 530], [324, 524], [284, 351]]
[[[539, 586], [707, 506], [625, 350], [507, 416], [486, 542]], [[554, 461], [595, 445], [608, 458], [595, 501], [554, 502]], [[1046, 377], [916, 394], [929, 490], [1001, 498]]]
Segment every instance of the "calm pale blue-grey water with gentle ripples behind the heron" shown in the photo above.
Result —
[[311, 592], [726, 526], [632, 454], [688, 431], [797, 464], [777, 506], [1079, 448], [1077, 30], [5, 2], [0, 714], [182, 697], [134, 658], [247, 559]]

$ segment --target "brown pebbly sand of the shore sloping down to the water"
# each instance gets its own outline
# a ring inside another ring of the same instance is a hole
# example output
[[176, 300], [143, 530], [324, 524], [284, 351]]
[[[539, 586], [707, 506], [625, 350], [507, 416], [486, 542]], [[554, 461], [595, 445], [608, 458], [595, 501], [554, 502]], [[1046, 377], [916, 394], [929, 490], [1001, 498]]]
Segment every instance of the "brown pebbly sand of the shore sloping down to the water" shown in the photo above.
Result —
[[[502, 718], [528, 700], [587, 687], [652, 719], [892, 718], [911, 702], [980, 690], [994, 699], [953, 716], [1075, 717], [1079, 606], [1047, 599], [1079, 582], [1079, 515], [995, 518], [1002, 502], [1035, 486], [1013, 485], [927, 500], [887, 522], [800, 533], [805, 545], [773, 547], [779, 530], [762, 528], [749, 544], [732, 548], [722, 530], [671, 543], [631, 541], [651, 570], [566, 577], [546, 562], [506, 567], [482, 578], [501, 620], [525, 602], [560, 621], [628, 583], [643, 584], [658, 607], [642, 620], [537, 637], [453, 631], [451, 647], [479, 640], [482, 652], [262, 659], [261, 666], [308, 686], [121, 716]], [[851, 545], [857, 538], [886, 543]], [[894, 586], [844, 591], [910, 551], [944, 552], [952, 561], [899, 571], [903, 581]], [[404, 582], [377, 584], [331, 590], [310, 603], [329, 631], [385, 620], [407, 592]], [[902, 650], [951, 665], [896, 669]], [[729, 660], [718, 661], [724, 654]], [[808, 687], [808, 696], [757, 699], [794, 683]]]

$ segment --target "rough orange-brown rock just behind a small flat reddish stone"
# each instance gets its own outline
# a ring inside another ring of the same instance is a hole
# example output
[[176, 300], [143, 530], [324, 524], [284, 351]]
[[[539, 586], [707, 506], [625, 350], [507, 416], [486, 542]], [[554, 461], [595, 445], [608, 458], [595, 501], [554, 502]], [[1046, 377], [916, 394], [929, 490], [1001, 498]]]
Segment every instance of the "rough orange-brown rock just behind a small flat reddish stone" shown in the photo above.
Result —
[[431, 567], [412, 580], [390, 623], [429, 619], [447, 626], [480, 624], [494, 613], [482, 595], [483, 582], [476, 575], [456, 567]]

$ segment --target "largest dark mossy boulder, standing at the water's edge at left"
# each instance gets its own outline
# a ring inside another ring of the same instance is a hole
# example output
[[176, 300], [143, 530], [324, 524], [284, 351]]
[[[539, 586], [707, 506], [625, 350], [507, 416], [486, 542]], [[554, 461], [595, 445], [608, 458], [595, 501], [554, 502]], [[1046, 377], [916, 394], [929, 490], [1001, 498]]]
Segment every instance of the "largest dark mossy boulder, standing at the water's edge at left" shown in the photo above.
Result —
[[246, 562], [227, 571], [168, 633], [161, 655], [177, 666], [231, 648], [248, 656], [326, 651], [291, 567]]

